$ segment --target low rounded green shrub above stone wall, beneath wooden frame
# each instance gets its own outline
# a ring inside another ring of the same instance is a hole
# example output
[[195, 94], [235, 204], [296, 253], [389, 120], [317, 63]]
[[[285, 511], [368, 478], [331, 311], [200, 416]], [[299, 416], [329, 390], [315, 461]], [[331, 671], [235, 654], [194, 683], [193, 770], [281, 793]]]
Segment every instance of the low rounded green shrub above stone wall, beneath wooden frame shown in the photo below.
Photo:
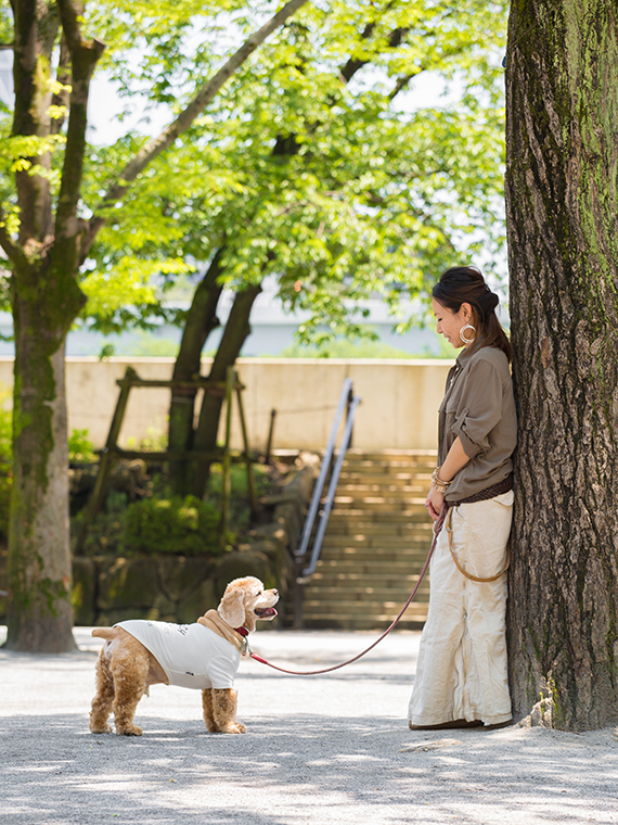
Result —
[[143, 498], [127, 507], [126, 546], [134, 553], [218, 555], [219, 521], [218, 510], [195, 496]]

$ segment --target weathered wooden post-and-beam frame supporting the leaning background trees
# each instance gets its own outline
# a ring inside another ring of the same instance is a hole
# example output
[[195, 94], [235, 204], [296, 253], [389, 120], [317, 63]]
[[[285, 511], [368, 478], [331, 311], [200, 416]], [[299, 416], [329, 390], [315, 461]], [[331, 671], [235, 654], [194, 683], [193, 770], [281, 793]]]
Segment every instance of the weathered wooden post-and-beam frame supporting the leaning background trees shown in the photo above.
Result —
[[[80, 531], [77, 535], [74, 550], [78, 551], [82, 546], [88, 534], [88, 530], [96, 513], [103, 506], [105, 500], [105, 494], [107, 490], [107, 481], [110, 473], [114, 466], [114, 462], [119, 459], [143, 458], [145, 461], [220, 461], [222, 466], [222, 487], [221, 487], [221, 542], [224, 542], [226, 534], [228, 532], [229, 518], [230, 518], [230, 496], [231, 496], [231, 466], [232, 461], [242, 461], [247, 468], [247, 486], [249, 493], [249, 502], [252, 516], [257, 515], [257, 496], [255, 480], [252, 468], [252, 457], [249, 453], [249, 443], [247, 435], [247, 426], [245, 418], [245, 410], [243, 406], [242, 391], [245, 389], [239, 381], [237, 372], [233, 367], [228, 368], [227, 380], [224, 382], [209, 381], [206, 377], [197, 376], [191, 381], [165, 381], [165, 380], [144, 380], [141, 379], [132, 367], [127, 367], [125, 377], [117, 382], [120, 388], [118, 394], [118, 401], [116, 403], [116, 409], [112, 417], [112, 423], [110, 426], [110, 432], [105, 446], [100, 450], [101, 459], [99, 464], [99, 473], [96, 475], [96, 482], [92, 494], [88, 500], [88, 504], [83, 511], [83, 520], [81, 522]], [[138, 449], [123, 449], [118, 446], [118, 437], [123, 428], [123, 420], [127, 405], [129, 403], [130, 391], [139, 388], [164, 388], [173, 390], [177, 388], [197, 389], [203, 390], [205, 393], [226, 395], [226, 441], [222, 447], [217, 448], [215, 452], [188, 449], [188, 450], [165, 450], [165, 452], [146, 452]], [[241, 430], [243, 435], [243, 452], [240, 455], [232, 454], [230, 448], [231, 431], [232, 431], [232, 402], [234, 394], [236, 395], [236, 403], [239, 407], [239, 416], [241, 419]]]

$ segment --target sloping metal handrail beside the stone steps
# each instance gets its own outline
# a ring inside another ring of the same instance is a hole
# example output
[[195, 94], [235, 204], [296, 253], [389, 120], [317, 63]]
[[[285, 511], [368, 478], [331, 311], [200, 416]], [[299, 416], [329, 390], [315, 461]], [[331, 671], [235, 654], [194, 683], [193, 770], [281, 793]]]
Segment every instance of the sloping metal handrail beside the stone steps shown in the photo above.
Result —
[[[352, 391], [352, 381], [350, 378], [346, 378], [342, 388], [342, 394], [339, 395], [339, 403], [335, 411], [335, 418], [331, 428], [331, 434], [329, 442], [322, 457], [322, 464], [320, 466], [320, 472], [316, 486], [313, 487], [313, 494], [311, 496], [311, 503], [307, 511], [307, 518], [305, 519], [305, 526], [300, 535], [300, 543], [295, 550], [294, 556], [296, 560], [296, 604], [295, 604], [295, 621], [294, 626], [300, 627], [302, 624], [302, 585], [311, 575], [316, 572], [316, 567], [320, 558], [320, 551], [322, 549], [322, 542], [324, 541], [324, 534], [326, 533], [326, 526], [329, 524], [329, 517], [333, 509], [333, 503], [335, 500], [335, 493], [337, 490], [337, 483], [339, 481], [339, 474], [346, 452], [351, 443], [352, 427], [355, 422], [355, 416], [360, 404], [360, 396], [355, 395]], [[329, 488], [326, 496], [322, 500], [322, 494], [326, 478], [331, 466], [333, 464], [333, 456], [335, 453], [335, 442], [337, 433], [342, 423], [342, 418], [346, 412], [346, 420], [344, 424], [344, 432], [342, 434], [342, 441], [339, 443], [339, 449], [337, 452], [337, 458], [331, 472], [331, 479], [329, 482]], [[322, 509], [320, 510], [320, 506]], [[311, 540], [311, 533], [313, 532], [313, 525], [316, 523], [316, 517], [320, 513], [320, 521], [318, 522], [318, 529], [316, 531], [316, 537], [313, 540], [313, 547], [311, 548], [311, 555], [309, 556], [309, 562], [307, 563], [307, 551], [309, 548], [309, 542]]]

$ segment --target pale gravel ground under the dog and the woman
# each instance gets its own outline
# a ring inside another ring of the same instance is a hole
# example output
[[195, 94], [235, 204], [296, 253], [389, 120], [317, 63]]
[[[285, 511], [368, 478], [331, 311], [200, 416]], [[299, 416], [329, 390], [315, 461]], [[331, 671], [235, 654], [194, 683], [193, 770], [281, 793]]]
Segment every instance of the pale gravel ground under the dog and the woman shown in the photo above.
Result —
[[[611, 729], [411, 732], [420, 634], [397, 633], [330, 675], [297, 678], [243, 661], [244, 736], [213, 735], [198, 691], [155, 686], [144, 735], [88, 731], [100, 643], [30, 656], [0, 649], [0, 823], [618, 824]], [[327, 667], [375, 634], [258, 632], [283, 667]], [[0, 642], [4, 629], [0, 629]]]

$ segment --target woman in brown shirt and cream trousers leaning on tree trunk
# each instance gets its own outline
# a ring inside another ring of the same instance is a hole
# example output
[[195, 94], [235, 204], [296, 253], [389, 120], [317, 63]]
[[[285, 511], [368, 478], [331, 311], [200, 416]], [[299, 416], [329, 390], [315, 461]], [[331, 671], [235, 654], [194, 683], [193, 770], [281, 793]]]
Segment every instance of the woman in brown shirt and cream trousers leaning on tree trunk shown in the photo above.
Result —
[[501, 725], [511, 720], [504, 633], [507, 542], [517, 422], [512, 347], [498, 295], [472, 267], [433, 290], [439, 333], [463, 352], [439, 409], [438, 467], [426, 507], [448, 510], [432, 558], [410, 727]]

